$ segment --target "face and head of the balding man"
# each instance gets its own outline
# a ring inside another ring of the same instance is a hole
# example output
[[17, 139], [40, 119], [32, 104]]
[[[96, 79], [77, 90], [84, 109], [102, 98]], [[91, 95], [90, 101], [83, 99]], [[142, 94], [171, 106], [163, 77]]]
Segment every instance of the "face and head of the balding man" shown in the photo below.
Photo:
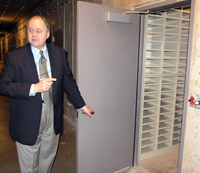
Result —
[[42, 19], [33, 18], [30, 20], [28, 26], [28, 41], [32, 46], [41, 50], [49, 38], [49, 34]]

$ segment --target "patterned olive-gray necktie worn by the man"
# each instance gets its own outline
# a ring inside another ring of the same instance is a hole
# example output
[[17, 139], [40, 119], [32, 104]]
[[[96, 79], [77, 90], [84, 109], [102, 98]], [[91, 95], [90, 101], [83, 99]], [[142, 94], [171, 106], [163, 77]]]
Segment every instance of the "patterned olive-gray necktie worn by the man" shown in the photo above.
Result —
[[[48, 72], [47, 72], [47, 63], [46, 59], [44, 57], [43, 51], [40, 51], [41, 57], [39, 60], [39, 70], [40, 70], [40, 79], [43, 78], [49, 78]], [[44, 104], [47, 106], [51, 106], [52, 104], [52, 87], [50, 88], [49, 91], [43, 92], [43, 101]]]

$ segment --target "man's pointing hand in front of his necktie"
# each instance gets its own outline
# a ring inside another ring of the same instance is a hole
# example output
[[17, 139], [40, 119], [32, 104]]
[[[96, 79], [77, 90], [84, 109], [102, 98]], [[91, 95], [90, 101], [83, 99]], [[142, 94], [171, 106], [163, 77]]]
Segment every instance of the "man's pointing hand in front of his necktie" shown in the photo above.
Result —
[[42, 79], [40, 82], [34, 85], [34, 92], [35, 93], [43, 93], [49, 91], [53, 81], [56, 81], [56, 78], [45, 78]]

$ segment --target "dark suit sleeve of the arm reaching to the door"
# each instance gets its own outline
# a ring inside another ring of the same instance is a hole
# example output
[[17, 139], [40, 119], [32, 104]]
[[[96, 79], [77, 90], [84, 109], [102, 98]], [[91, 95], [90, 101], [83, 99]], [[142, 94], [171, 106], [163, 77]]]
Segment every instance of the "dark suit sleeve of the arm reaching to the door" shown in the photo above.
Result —
[[80, 109], [85, 106], [85, 102], [81, 96], [75, 79], [73, 78], [72, 71], [69, 63], [64, 54], [64, 89], [70, 101], [74, 104], [75, 108]]

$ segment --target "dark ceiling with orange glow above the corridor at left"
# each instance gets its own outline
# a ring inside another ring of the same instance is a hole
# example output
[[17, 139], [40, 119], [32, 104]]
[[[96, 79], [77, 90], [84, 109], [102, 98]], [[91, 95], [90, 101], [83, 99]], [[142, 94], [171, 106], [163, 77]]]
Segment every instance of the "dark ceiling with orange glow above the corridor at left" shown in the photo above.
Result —
[[0, 37], [45, 0], [0, 0]]

